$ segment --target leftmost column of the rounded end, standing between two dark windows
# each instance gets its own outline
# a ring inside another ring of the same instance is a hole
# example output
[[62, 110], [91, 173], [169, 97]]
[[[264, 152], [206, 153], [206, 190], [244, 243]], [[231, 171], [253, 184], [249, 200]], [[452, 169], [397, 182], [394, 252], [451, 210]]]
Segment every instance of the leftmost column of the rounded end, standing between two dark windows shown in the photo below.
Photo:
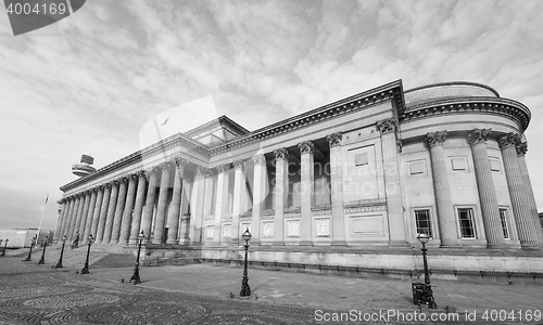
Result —
[[432, 160], [433, 191], [435, 193], [441, 247], [457, 247], [456, 218], [451, 199], [451, 187], [449, 185], [445, 153], [443, 150], [445, 139], [446, 131], [426, 134], [426, 142], [430, 148], [430, 158]]

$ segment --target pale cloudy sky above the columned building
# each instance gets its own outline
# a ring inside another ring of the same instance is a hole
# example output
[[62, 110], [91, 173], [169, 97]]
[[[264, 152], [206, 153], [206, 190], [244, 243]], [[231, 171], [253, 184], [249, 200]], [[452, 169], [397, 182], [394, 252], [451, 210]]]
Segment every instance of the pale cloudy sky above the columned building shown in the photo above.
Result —
[[0, 229], [37, 227], [43, 207], [54, 229], [81, 154], [100, 168], [138, 151], [142, 126], [182, 103], [211, 98], [255, 130], [397, 79], [527, 105], [543, 210], [542, 30], [540, 0], [88, 0], [16, 37], [0, 13]]

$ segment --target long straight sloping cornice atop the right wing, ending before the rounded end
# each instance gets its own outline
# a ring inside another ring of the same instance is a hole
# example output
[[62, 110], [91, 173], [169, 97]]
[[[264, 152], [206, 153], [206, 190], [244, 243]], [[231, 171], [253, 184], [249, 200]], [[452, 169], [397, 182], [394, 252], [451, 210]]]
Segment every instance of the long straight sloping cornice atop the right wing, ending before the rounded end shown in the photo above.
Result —
[[245, 135], [233, 139], [223, 145], [211, 148], [211, 156], [241, 147], [254, 142], [278, 136], [302, 128], [306, 128], [325, 120], [333, 119], [345, 114], [370, 107], [376, 104], [392, 101], [399, 115], [405, 110], [402, 80], [396, 80], [381, 87], [355, 94], [344, 100], [302, 113], [286, 120], [273, 123]]

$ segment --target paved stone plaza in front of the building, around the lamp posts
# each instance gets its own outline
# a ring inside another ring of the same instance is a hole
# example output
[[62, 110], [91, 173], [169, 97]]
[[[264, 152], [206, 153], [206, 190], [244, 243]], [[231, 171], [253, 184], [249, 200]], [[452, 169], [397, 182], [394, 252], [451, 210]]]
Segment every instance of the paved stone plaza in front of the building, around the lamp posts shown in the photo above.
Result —
[[[52, 255], [53, 255], [52, 249]], [[0, 324], [416, 324], [411, 281], [249, 270], [251, 299], [237, 297], [242, 269], [214, 264], [53, 270], [24, 256], [0, 259]], [[543, 324], [543, 287], [432, 281], [438, 310], [428, 324]], [[230, 298], [230, 292], [233, 297]], [[445, 307], [458, 318], [445, 317]], [[477, 312], [477, 322], [472, 320]], [[487, 321], [482, 318], [487, 312]], [[403, 315], [403, 318], [399, 318]], [[500, 322], [500, 316], [507, 320]], [[510, 316], [515, 316], [513, 320]], [[332, 322], [336, 317], [343, 322]], [[523, 317], [520, 321], [520, 316]], [[531, 321], [527, 320], [531, 318]], [[328, 321], [329, 322], [325, 322]], [[412, 322], [408, 322], [412, 321]]]

